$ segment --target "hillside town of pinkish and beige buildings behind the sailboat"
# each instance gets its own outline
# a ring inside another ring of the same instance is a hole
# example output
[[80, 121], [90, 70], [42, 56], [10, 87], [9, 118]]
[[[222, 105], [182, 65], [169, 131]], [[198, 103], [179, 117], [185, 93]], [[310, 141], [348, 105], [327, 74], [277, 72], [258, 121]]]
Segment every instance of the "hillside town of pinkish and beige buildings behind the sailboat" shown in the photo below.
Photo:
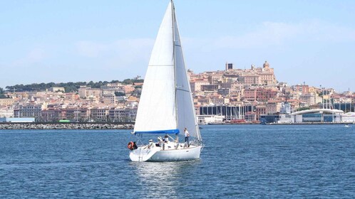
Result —
[[[187, 70], [200, 124], [259, 124], [268, 115], [306, 109], [339, 109], [341, 114], [355, 117], [351, 114], [353, 92], [279, 82], [267, 61], [249, 69], [226, 63], [222, 69], [201, 73]], [[73, 92], [66, 92], [64, 87], [36, 92], [4, 90], [0, 122], [135, 122], [143, 86], [143, 82], [115, 82], [100, 88], [81, 86]]]

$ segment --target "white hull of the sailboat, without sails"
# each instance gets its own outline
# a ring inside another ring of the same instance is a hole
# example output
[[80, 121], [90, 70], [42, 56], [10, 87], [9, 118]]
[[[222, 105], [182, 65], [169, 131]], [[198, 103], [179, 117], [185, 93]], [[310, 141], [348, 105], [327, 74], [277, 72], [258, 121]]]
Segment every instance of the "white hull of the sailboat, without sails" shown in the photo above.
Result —
[[200, 158], [202, 146], [190, 146], [188, 148], [165, 149], [155, 146], [152, 149], [138, 147], [130, 151], [131, 161], [188, 161]]

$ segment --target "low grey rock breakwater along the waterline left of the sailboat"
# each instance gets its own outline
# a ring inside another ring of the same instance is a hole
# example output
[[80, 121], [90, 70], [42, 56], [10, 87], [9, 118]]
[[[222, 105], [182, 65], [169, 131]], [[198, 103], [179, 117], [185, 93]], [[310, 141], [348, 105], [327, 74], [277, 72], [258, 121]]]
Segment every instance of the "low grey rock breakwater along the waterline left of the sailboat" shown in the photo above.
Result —
[[68, 124], [36, 124], [36, 123], [5, 123], [0, 124], [0, 129], [133, 129], [133, 124], [93, 124], [93, 123], [68, 123]]

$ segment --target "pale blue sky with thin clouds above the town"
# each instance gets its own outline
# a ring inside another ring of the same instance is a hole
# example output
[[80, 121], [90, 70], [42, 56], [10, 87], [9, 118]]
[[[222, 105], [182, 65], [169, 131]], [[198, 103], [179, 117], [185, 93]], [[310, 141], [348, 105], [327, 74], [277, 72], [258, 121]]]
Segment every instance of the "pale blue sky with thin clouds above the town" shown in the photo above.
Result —
[[[168, 0], [0, 1], [0, 87], [144, 77]], [[186, 67], [355, 91], [355, 1], [175, 0]]]

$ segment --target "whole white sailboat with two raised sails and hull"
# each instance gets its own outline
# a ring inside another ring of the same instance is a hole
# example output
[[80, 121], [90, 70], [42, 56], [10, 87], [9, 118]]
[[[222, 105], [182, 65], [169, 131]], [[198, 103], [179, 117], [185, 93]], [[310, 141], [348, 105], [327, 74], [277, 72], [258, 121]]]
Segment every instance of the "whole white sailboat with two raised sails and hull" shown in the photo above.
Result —
[[[179, 142], [179, 134], [184, 134], [185, 128], [190, 134], [188, 144]], [[158, 134], [158, 139], [140, 146], [130, 142], [131, 161], [185, 161], [200, 158], [202, 137], [182, 55], [173, 1], [170, 1], [165, 11], [150, 56], [132, 134], [138, 139], [143, 134]], [[170, 141], [162, 141], [161, 136], [170, 138]]]

